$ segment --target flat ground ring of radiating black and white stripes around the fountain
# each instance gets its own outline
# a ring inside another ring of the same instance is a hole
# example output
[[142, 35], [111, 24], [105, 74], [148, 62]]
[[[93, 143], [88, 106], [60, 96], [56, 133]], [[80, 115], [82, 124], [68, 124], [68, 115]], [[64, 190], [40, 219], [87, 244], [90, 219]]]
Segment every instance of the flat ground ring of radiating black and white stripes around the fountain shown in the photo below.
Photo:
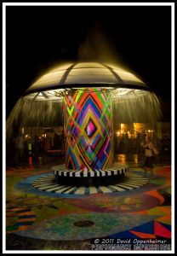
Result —
[[38, 178], [34, 183], [32, 183], [32, 186], [36, 189], [50, 193], [64, 195], [91, 195], [138, 189], [146, 185], [146, 183], [148, 183], [148, 178], [128, 174], [128, 177], [125, 178], [124, 182], [114, 183], [107, 186], [70, 186], [58, 183], [54, 176], [46, 176]]

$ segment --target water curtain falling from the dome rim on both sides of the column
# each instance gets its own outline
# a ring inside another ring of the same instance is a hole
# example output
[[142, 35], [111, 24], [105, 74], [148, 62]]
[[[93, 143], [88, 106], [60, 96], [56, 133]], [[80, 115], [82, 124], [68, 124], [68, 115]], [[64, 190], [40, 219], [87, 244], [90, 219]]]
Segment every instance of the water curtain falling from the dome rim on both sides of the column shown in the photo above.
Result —
[[[113, 124], [151, 123], [162, 118], [157, 96], [153, 92], [115, 96], [113, 102]], [[62, 101], [31, 101], [20, 97], [7, 120], [7, 140], [14, 137], [15, 129], [20, 127], [54, 127], [63, 125]]]

